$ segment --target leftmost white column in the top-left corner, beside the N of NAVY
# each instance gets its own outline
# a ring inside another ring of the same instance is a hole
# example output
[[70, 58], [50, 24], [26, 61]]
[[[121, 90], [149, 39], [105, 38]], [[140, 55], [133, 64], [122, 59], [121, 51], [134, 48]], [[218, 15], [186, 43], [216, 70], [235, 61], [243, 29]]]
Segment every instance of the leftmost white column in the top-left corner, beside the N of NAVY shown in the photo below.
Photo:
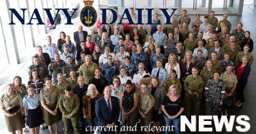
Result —
[[[10, 3], [9, 1], [2, 1], [1, 5], [1, 18], [3, 19], [3, 31], [4, 36], [6, 37], [5, 42], [7, 46], [7, 55], [11, 65], [16, 65], [20, 63], [20, 57], [18, 54], [18, 47], [15, 37], [14, 25], [9, 25], [11, 22], [11, 12], [9, 11]], [[18, 25], [18, 24], [17, 24]]]

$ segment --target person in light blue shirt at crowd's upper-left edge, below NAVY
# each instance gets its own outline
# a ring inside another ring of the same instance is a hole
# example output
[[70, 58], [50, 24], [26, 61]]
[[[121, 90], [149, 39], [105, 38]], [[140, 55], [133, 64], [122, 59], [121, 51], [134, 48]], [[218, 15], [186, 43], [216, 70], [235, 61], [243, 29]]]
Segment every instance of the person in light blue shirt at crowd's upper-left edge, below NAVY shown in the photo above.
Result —
[[52, 37], [47, 36], [46, 37], [47, 44], [43, 46], [43, 52], [49, 54], [51, 60], [54, 60], [54, 54], [58, 53], [58, 48], [56, 44], [52, 43]]

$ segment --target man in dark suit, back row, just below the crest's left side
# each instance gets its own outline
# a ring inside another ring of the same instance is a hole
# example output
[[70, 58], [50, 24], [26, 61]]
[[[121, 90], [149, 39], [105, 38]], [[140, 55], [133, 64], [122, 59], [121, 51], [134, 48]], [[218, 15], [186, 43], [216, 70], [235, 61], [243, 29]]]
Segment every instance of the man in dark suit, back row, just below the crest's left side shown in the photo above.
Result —
[[78, 31], [74, 33], [75, 49], [78, 50], [80, 46], [80, 41], [86, 41], [87, 31], [83, 31], [83, 25], [78, 25]]

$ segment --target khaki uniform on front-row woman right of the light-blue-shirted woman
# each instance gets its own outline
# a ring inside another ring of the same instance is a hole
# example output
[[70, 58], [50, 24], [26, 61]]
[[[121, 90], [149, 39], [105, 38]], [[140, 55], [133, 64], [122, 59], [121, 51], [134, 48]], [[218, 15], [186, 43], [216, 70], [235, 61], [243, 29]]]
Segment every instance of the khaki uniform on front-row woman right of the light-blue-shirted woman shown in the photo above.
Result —
[[[59, 96], [60, 96], [60, 94], [58, 92], [58, 88], [56, 88], [55, 86], [53, 86], [50, 90], [47, 90], [47, 88], [44, 87], [40, 91], [39, 100], [44, 101], [45, 105], [47, 105], [47, 107], [49, 107], [49, 109], [55, 110], [56, 105], [58, 103]], [[60, 116], [58, 115], [59, 113], [56, 115], [53, 115], [50, 112], [48, 112], [47, 110], [45, 110], [45, 109], [43, 109], [43, 110], [44, 110], [43, 114], [44, 114], [46, 126], [51, 126], [60, 120]]]

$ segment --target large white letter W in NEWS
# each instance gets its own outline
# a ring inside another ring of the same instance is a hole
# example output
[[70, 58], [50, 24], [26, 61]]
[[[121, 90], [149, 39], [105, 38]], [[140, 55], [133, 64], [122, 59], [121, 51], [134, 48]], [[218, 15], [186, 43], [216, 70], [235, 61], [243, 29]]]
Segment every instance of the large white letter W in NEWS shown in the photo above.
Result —
[[221, 116], [221, 120], [219, 121], [218, 116], [213, 116], [213, 121], [215, 124], [216, 131], [222, 131], [223, 124], [226, 127], [226, 131], [232, 131], [234, 126], [234, 118], [235, 116], [230, 116], [230, 120], [228, 122], [228, 118], [226, 116]]

